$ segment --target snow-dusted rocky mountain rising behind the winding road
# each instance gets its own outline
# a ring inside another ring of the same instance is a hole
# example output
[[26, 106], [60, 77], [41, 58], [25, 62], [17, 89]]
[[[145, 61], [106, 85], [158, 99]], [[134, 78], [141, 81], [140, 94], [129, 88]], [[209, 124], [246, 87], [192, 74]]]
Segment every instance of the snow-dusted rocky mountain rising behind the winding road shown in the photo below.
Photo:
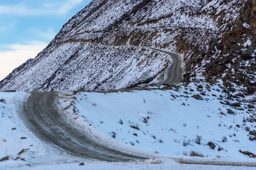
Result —
[[[171, 58], [183, 57], [183, 81], [221, 78], [255, 91], [254, 0], [93, 0], [72, 17], [0, 90], [108, 90], [157, 84]], [[96, 42], [91, 44], [90, 42]], [[99, 46], [96, 46], [96, 45]]]

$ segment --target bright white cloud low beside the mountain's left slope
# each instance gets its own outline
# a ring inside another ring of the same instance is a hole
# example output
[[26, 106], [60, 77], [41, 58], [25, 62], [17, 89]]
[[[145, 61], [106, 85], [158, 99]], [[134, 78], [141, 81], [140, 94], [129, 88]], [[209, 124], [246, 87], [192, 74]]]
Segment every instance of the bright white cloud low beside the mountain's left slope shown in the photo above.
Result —
[[0, 80], [29, 58], [35, 58], [47, 45], [48, 43], [40, 41], [28, 42], [25, 45], [4, 45], [6, 50], [0, 50]]

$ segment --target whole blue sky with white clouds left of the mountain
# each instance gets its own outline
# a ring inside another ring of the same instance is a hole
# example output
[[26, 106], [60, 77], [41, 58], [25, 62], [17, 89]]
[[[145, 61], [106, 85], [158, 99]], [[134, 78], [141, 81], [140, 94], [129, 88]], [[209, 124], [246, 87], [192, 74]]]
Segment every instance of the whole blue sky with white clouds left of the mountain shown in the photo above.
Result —
[[0, 0], [0, 80], [35, 58], [91, 0]]

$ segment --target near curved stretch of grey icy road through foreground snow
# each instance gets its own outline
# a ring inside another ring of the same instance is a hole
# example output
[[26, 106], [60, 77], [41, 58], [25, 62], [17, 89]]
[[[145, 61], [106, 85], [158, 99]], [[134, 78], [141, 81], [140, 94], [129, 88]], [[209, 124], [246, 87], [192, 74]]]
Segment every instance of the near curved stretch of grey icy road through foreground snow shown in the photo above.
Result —
[[55, 105], [57, 96], [57, 92], [32, 92], [24, 103], [20, 117], [35, 136], [82, 158], [101, 161], [146, 159], [100, 145], [85, 130], [81, 132], [68, 124]]

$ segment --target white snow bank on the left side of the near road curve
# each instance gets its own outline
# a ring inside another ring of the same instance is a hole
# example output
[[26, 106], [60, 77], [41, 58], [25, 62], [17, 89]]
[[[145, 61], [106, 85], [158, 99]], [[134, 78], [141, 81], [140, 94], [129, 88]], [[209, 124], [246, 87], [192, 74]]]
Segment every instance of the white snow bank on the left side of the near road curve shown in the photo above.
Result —
[[19, 117], [28, 96], [25, 92], [0, 92], [0, 169], [55, 158], [56, 151], [38, 140]]

